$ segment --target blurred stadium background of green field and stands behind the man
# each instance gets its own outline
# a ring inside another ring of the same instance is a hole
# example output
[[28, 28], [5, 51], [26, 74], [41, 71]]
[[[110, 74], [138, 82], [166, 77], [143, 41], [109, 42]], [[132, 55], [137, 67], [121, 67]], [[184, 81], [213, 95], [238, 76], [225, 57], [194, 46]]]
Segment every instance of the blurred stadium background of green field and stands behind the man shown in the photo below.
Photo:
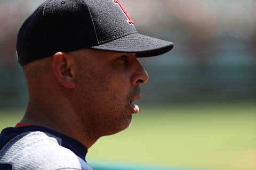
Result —
[[[15, 41], [42, 2], [0, 0], [0, 130], [15, 125], [26, 107]], [[90, 148], [89, 164], [255, 170], [256, 1], [121, 2], [140, 33], [175, 47], [140, 59], [150, 75], [141, 113], [131, 128]]]

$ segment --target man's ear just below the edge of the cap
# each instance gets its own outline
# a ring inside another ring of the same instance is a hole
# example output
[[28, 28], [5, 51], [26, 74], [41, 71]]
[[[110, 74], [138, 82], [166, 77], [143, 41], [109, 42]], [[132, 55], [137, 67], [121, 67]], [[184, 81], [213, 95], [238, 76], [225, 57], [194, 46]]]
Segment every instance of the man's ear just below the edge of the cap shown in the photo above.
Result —
[[54, 77], [66, 88], [76, 87], [74, 59], [67, 53], [58, 52], [52, 58], [52, 71]]

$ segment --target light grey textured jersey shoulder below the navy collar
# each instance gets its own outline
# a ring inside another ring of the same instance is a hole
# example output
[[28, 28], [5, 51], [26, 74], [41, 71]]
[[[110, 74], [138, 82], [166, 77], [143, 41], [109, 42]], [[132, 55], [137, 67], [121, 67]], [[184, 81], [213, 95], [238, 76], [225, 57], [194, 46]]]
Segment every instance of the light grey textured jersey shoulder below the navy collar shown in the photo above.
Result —
[[81, 164], [87, 165], [62, 147], [60, 138], [42, 131], [21, 133], [10, 140], [0, 151], [1, 162], [12, 164], [13, 169], [83, 169]]

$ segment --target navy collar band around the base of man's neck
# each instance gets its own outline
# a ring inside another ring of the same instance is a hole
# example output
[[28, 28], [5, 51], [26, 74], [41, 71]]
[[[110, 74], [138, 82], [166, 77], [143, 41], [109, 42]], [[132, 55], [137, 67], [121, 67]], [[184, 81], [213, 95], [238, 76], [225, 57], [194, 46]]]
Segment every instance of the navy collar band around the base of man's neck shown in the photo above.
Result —
[[24, 133], [24, 132], [31, 132], [31, 131], [42, 131], [46, 133], [50, 133], [55, 135], [56, 137], [61, 138], [61, 146], [70, 149], [73, 151], [77, 156], [85, 159], [87, 154], [87, 148], [79, 141], [68, 137], [67, 135], [61, 134], [59, 132], [53, 131], [48, 128], [44, 128], [42, 126], [22, 126], [17, 128], [5, 128], [0, 134], [0, 150], [9, 142], [11, 139], [16, 137], [17, 135]]

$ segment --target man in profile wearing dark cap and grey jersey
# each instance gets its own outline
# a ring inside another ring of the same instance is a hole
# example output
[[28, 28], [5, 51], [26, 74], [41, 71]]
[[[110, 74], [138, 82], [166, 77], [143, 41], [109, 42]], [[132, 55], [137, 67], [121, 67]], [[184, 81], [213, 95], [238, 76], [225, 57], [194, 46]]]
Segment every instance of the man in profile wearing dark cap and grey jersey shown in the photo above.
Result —
[[173, 44], [137, 33], [118, 0], [52, 0], [18, 33], [25, 116], [0, 135], [0, 169], [92, 169], [87, 148], [129, 127], [148, 74], [136, 57]]

